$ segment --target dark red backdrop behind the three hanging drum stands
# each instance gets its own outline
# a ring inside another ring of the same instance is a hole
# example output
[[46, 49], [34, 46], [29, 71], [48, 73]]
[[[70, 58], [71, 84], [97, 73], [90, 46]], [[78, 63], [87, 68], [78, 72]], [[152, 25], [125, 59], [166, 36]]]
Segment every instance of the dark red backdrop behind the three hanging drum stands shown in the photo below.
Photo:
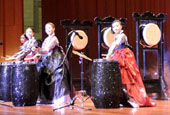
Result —
[[[155, 15], [158, 13], [170, 13], [169, 0], [42, 0], [42, 23], [51, 21], [56, 25], [56, 35], [59, 38], [61, 45], [65, 48], [65, 30], [60, 25], [63, 19], [79, 19], [80, 21], [89, 20], [93, 22], [92, 28], [89, 29], [89, 57], [92, 59], [97, 58], [97, 25], [94, 23], [94, 18], [104, 18], [112, 16], [115, 18], [127, 18], [125, 26], [125, 33], [128, 36], [129, 43], [136, 52], [136, 30], [135, 21], [133, 20], [132, 13], [139, 14], [146, 11], [153, 12]], [[167, 55], [170, 44], [170, 17], [164, 23], [164, 40], [165, 40], [165, 54]], [[43, 33], [45, 37], [45, 33]], [[76, 56], [75, 56], [76, 58]], [[80, 65], [78, 58], [73, 60], [74, 78], [80, 78]], [[156, 62], [155, 54], [150, 54], [149, 63], [152, 65]], [[169, 59], [166, 57], [166, 62]], [[90, 62], [90, 65], [92, 62]], [[154, 65], [155, 66], [155, 65]], [[155, 71], [155, 67], [152, 67]], [[169, 68], [168, 68], [169, 69]], [[152, 70], [151, 70], [152, 71]]]

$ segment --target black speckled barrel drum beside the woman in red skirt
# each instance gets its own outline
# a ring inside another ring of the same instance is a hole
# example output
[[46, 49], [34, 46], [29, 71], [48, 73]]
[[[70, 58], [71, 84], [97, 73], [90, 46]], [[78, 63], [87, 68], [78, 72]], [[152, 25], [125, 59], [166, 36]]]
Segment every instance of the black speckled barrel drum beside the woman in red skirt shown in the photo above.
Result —
[[119, 63], [113, 60], [93, 61], [91, 97], [96, 108], [118, 108], [121, 96]]

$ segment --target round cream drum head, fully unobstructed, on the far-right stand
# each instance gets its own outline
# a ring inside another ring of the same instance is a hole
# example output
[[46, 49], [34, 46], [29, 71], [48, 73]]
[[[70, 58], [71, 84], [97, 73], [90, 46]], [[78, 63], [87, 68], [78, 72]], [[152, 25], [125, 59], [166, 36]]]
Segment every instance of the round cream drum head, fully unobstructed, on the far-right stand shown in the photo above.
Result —
[[153, 23], [147, 24], [143, 30], [143, 39], [150, 46], [158, 44], [161, 39], [161, 31], [158, 25]]

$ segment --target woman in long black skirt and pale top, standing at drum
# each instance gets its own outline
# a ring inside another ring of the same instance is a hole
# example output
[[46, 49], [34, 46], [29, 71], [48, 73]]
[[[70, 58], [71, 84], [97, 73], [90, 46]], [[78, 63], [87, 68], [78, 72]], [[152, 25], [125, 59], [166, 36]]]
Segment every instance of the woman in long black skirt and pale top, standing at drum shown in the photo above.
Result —
[[42, 47], [33, 49], [42, 55], [37, 64], [40, 72], [40, 103], [62, 106], [71, 100], [67, 60], [63, 60], [65, 54], [55, 36], [55, 25], [47, 23], [45, 32], [48, 37]]

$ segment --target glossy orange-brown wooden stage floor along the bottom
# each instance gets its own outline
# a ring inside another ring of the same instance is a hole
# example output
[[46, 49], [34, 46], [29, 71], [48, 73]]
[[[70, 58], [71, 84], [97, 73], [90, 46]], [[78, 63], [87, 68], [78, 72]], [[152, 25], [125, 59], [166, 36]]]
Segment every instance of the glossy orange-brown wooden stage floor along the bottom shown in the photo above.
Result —
[[[5, 102], [0, 104], [0, 115], [170, 115], [170, 101], [155, 100], [155, 102], [157, 104], [156, 107], [96, 109], [89, 98], [83, 103], [83, 106], [92, 110], [70, 106], [55, 111], [53, 111], [55, 108], [53, 105], [37, 104], [36, 106], [10, 108], [5, 105], [12, 106], [12, 102]], [[75, 104], [81, 105], [82, 103], [76, 100]]]

